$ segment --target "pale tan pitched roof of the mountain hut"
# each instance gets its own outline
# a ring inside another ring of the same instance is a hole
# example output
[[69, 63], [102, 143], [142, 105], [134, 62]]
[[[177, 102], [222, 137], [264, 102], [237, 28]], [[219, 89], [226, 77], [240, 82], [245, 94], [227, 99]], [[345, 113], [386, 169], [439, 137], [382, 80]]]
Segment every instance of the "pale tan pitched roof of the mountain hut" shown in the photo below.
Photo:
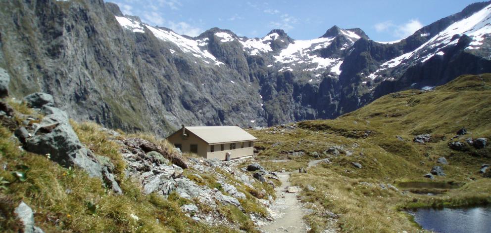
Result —
[[208, 144], [257, 140], [239, 126], [189, 126], [185, 128]]

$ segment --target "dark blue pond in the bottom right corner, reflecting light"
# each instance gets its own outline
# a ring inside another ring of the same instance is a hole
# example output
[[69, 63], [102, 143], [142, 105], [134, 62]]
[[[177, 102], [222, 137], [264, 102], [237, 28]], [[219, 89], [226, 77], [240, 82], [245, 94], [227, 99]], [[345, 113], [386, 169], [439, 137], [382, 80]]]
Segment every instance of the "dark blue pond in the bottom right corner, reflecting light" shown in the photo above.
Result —
[[438, 233], [491, 233], [491, 205], [409, 211], [422, 228]]

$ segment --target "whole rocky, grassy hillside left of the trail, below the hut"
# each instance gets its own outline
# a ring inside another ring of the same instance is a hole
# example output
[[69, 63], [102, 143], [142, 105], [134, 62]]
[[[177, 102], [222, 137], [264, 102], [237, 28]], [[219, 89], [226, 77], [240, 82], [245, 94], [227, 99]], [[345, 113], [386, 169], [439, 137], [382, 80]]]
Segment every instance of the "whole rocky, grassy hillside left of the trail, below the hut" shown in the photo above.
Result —
[[267, 221], [272, 175], [76, 122], [52, 96], [19, 101], [0, 83], [0, 232], [236, 233]]

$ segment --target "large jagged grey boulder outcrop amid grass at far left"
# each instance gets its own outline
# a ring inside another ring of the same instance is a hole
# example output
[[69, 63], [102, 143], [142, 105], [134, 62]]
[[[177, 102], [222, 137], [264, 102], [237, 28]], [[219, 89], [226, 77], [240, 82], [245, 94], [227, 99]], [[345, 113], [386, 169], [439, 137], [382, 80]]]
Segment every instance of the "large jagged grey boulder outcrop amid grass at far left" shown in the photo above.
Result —
[[[76, 166], [85, 170], [90, 176], [103, 180], [117, 194], [122, 194], [114, 176], [109, 172], [114, 165], [110, 162], [101, 165], [96, 155], [82, 145], [70, 125], [68, 115], [52, 107], [52, 96], [46, 93], [35, 93], [27, 96], [26, 101], [33, 108], [41, 108], [47, 114], [39, 124], [35, 124], [32, 133], [25, 128], [18, 128], [15, 135], [23, 143], [26, 151], [47, 155], [60, 165], [68, 168]], [[30, 102], [29, 102], [30, 101]], [[108, 170], [109, 168], [109, 170]]]

